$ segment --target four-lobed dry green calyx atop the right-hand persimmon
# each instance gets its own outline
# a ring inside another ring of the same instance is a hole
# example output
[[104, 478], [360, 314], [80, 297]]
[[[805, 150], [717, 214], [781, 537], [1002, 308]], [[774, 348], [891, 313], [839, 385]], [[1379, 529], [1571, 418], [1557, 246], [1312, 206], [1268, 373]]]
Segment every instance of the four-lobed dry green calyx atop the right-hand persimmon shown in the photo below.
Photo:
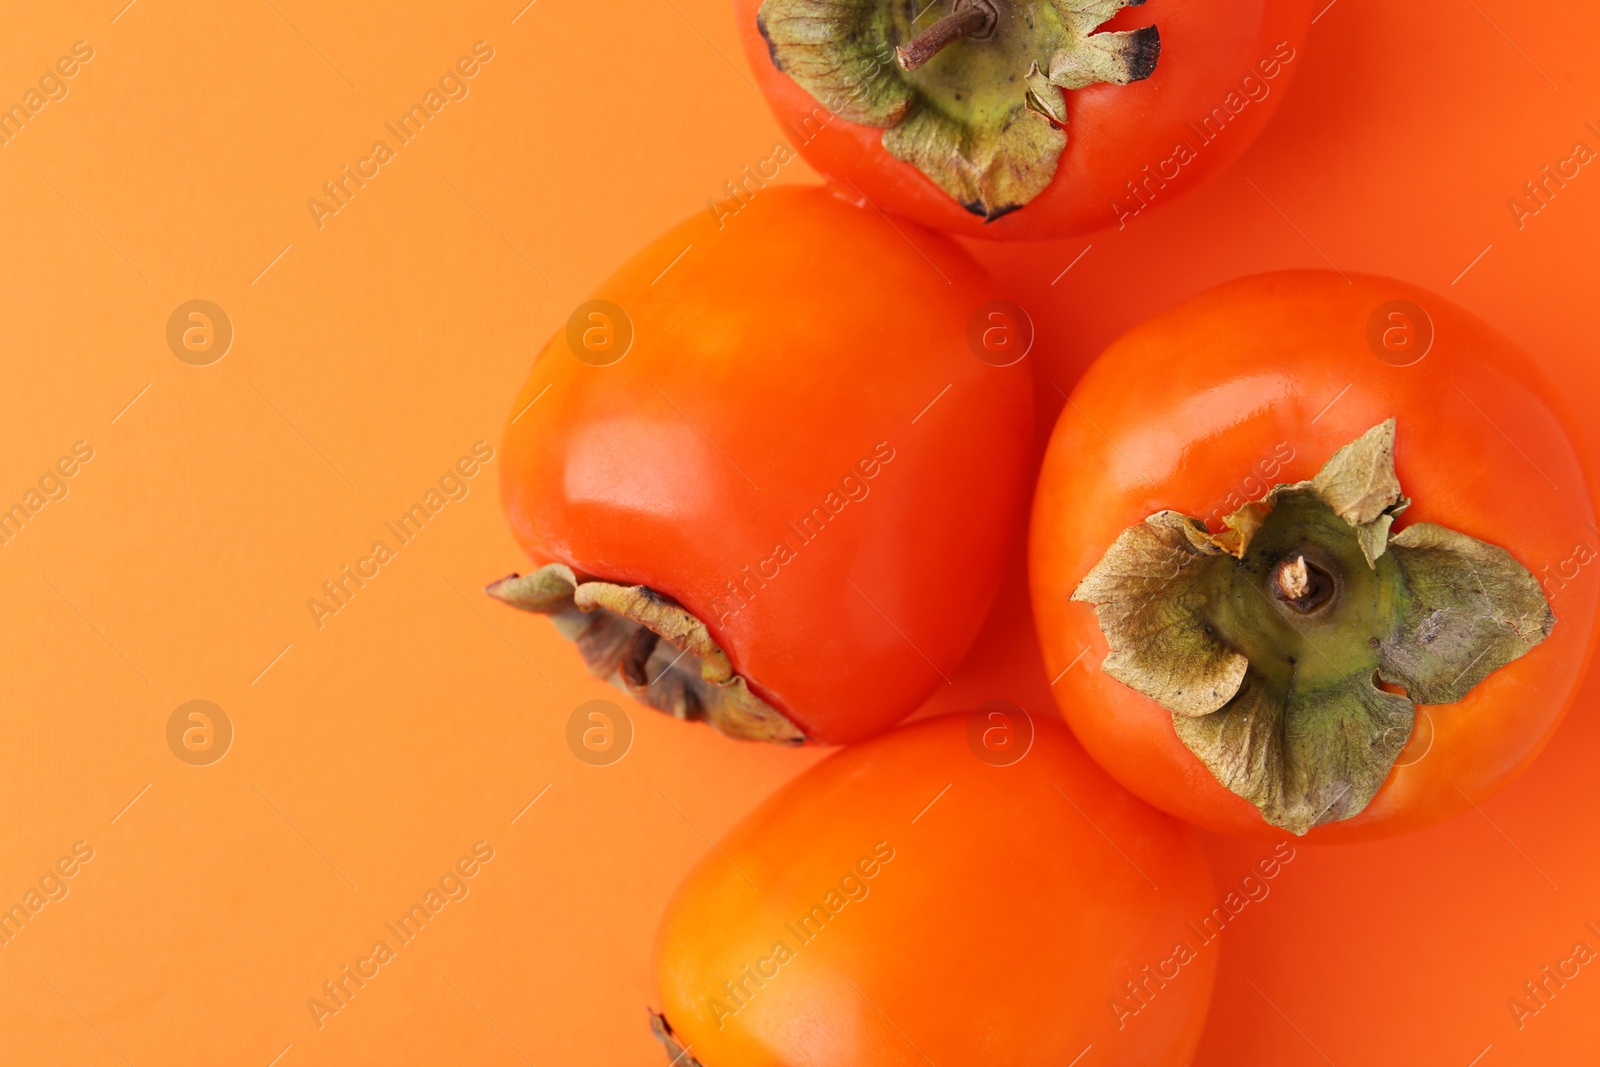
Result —
[[1216, 779], [1293, 833], [1366, 808], [1414, 704], [1454, 704], [1555, 625], [1504, 549], [1434, 523], [1390, 533], [1410, 504], [1394, 440], [1394, 419], [1374, 426], [1219, 533], [1157, 512], [1072, 593], [1110, 646], [1101, 669], [1171, 712]]

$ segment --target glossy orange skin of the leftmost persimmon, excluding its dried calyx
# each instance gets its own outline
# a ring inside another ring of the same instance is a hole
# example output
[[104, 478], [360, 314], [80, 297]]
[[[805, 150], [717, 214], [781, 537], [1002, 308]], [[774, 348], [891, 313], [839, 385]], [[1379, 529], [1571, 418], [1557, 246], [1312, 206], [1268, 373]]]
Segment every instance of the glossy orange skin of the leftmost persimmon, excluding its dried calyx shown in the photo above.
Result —
[[987, 275], [781, 187], [696, 213], [595, 296], [632, 349], [594, 366], [563, 330], [510, 408], [501, 496], [526, 553], [678, 600], [811, 739], [914, 710], [976, 637], [1029, 493], [1027, 360], [968, 346]]

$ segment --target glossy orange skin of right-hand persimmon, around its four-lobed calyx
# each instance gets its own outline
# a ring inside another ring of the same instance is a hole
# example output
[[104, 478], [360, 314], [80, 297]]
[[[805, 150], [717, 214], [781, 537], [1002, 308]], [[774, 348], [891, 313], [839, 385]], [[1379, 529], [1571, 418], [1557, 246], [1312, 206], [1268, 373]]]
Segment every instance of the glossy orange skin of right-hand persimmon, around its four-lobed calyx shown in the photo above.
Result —
[[[1389, 301], [1422, 307], [1434, 325], [1432, 349], [1405, 366], [1414, 349], [1386, 360], [1368, 342]], [[1390, 416], [1395, 470], [1413, 501], [1395, 530], [1432, 522], [1507, 549], [1541, 581], [1557, 624], [1462, 701], [1419, 707], [1371, 803], [1307, 840], [1448, 819], [1544, 747], [1587, 667], [1597, 598], [1594, 582], [1560, 577], [1574, 549], [1594, 542], [1594, 507], [1549, 386], [1506, 338], [1426, 290], [1285, 272], [1218, 286], [1123, 334], [1078, 382], [1050, 440], [1029, 545], [1034, 613], [1045, 664], [1061, 675], [1056, 699], [1112, 777], [1213, 830], [1283, 833], [1178, 741], [1163, 707], [1101, 670], [1109, 649], [1094, 609], [1070, 595], [1147, 515], [1174, 509], [1221, 528], [1243, 501], [1310, 478]]]

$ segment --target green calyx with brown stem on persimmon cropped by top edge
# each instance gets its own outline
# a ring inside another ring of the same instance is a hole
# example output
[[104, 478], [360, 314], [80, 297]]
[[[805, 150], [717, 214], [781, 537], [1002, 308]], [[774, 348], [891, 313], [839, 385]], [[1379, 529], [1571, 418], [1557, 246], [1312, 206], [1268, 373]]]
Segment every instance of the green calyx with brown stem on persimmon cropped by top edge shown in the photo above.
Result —
[[[1056, 176], [1062, 90], [1150, 77], [1154, 26], [1098, 30], [1144, 0], [765, 0], [773, 66], [986, 221]], [[920, 16], [920, 18], [918, 18]]]

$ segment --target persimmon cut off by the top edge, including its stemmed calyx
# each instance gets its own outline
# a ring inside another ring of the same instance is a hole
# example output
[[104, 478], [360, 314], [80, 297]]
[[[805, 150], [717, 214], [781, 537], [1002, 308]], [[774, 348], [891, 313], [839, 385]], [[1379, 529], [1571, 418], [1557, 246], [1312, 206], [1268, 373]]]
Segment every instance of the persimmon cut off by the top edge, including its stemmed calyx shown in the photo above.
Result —
[[786, 136], [859, 198], [989, 238], [1125, 226], [1277, 110], [1310, 0], [734, 0]]

